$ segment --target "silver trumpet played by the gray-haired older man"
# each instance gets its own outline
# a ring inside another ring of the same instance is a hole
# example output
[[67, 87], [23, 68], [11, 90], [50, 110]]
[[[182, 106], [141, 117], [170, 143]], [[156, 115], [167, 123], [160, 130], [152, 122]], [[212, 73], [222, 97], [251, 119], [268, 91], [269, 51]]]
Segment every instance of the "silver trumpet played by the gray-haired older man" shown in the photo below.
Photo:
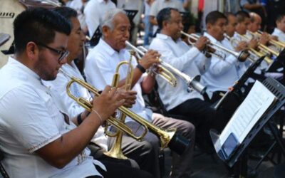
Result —
[[[130, 46], [130, 48], [132, 48], [134, 51], [138, 52], [141, 56], [145, 55], [145, 53], [147, 52], [146, 48], [143, 48], [143, 47], [137, 48], [137, 47], [133, 46], [128, 41], [125, 41], [125, 44], [127, 46]], [[201, 83], [199, 83], [199, 80], [201, 79], [200, 75], [196, 75], [195, 77], [192, 78], [189, 75], [186, 75], [185, 73], [182, 73], [180, 70], [177, 70], [177, 68], [174, 68], [170, 64], [165, 63], [165, 61], [162, 61], [161, 59], [159, 59], [159, 61], [160, 61], [160, 66], [159, 67], [162, 68], [162, 70], [166, 70], [166, 68], [169, 68], [172, 73], [175, 73], [180, 78], [185, 80], [185, 83], [190, 88], [190, 90], [197, 90], [197, 92], [201, 93], [201, 95], [204, 95], [204, 93], [206, 92], [207, 88], [204, 85], [202, 85]], [[171, 73], [171, 72], [169, 72], [169, 73]]]

